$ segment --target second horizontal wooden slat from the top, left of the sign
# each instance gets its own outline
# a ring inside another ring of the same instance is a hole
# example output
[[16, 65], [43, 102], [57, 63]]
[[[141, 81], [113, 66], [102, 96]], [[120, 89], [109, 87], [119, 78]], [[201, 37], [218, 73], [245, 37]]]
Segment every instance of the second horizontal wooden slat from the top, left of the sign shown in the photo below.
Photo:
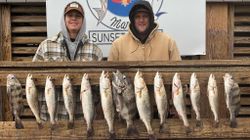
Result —
[[46, 16], [12, 16], [13, 23], [46, 22]]

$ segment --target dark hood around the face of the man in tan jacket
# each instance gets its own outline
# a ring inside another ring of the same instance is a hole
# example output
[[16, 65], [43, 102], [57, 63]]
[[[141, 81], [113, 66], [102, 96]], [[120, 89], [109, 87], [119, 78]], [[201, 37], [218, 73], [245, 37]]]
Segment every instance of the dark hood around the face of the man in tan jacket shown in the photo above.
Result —
[[[141, 37], [141, 34], [136, 30], [135, 28], [135, 22], [134, 22], [134, 16], [140, 12], [140, 11], [147, 11], [149, 14], [149, 28], [143, 33], [143, 37]], [[152, 30], [156, 27], [156, 24], [154, 23], [154, 12], [153, 9], [148, 1], [145, 0], [138, 0], [134, 3], [133, 7], [131, 8], [129, 12], [129, 20], [130, 20], [130, 30], [134, 34], [136, 38], [138, 38], [143, 44], [146, 42], [149, 34], [152, 32]]]

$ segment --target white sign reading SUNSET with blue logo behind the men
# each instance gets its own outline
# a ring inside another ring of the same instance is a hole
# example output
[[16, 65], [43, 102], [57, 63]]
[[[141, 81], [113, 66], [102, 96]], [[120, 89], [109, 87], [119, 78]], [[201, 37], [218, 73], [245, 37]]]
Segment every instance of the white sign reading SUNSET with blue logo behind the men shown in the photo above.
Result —
[[[64, 7], [72, 0], [47, 0], [48, 37], [60, 31]], [[87, 31], [108, 56], [111, 43], [129, 27], [129, 11], [137, 0], [75, 0], [85, 11]], [[204, 55], [206, 42], [205, 0], [148, 0], [160, 29], [172, 36], [181, 55]]]

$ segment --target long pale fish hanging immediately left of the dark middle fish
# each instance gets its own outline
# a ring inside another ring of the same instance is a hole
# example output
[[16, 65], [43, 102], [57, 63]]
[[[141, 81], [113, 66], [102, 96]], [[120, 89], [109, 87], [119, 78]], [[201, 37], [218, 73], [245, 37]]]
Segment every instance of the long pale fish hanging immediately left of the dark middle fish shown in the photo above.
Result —
[[102, 71], [100, 76], [100, 96], [101, 96], [101, 106], [104, 114], [104, 118], [107, 121], [109, 128], [109, 139], [115, 139], [114, 131], [114, 103], [112, 97], [111, 82], [109, 79], [109, 73]]

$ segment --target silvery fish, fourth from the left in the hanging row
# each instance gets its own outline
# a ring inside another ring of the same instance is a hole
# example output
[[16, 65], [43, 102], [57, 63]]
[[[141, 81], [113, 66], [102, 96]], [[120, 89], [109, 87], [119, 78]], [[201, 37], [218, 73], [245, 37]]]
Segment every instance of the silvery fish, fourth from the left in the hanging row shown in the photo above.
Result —
[[68, 74], [64, 75], [62, 88], [63, 88], [64, 105], [69, 114], [68, 129], [73, 129], [74, 128], [74, 112], [75, 112], [74, 89], [73, 89], [72, 82]]

